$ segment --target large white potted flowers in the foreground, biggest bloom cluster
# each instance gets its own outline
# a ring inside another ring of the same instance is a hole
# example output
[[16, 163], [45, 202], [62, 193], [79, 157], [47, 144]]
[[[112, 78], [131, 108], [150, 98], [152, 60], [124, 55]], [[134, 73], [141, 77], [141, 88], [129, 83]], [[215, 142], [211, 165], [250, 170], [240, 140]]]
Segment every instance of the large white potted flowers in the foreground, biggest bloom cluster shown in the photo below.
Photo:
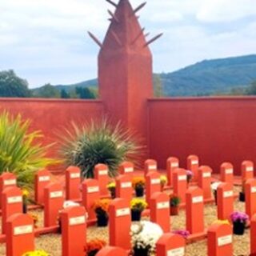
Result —
[[155, 252], [155, 245], [162, 236], [161, 227], [153, 222], [142, 221], [131, 226], [131, 244], [134, 256], [148, 256]]

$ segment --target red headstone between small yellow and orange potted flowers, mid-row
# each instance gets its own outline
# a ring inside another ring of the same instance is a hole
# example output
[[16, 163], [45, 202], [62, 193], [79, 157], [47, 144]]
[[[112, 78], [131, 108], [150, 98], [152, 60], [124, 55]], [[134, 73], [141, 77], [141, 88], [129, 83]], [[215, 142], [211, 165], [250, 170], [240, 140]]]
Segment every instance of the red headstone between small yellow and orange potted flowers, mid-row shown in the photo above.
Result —
[[133, 186], [129, 174], [120, 175], [116, 178], [116, 197], [124, 198], [129, 202], [133, 198]]

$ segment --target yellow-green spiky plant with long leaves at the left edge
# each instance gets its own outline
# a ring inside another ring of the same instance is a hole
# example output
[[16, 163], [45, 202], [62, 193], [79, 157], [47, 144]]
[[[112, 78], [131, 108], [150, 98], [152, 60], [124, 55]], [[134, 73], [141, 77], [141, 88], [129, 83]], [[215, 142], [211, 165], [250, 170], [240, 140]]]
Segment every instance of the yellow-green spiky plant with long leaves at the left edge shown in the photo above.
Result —
[[20, 114], [14, 116], [7, 111], [0, 114], [0, 174], [8, 171], [17, 175], [21, 186], [31, 186], [34, 173], [54, 159], [46, 158], [49, 146], [42, 146], [38, 140], [42, 133], [29, 131], [30, 120], [22, 120]]

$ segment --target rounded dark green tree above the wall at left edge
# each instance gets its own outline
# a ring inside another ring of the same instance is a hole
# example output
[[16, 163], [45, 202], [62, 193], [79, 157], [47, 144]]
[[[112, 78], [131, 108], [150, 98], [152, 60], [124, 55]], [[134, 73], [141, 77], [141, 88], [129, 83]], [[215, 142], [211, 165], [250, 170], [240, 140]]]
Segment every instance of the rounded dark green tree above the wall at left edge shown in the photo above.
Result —
[[14, 70], [0, 71], [0, 97], [30, 97], [28, 82], [19, 78]]

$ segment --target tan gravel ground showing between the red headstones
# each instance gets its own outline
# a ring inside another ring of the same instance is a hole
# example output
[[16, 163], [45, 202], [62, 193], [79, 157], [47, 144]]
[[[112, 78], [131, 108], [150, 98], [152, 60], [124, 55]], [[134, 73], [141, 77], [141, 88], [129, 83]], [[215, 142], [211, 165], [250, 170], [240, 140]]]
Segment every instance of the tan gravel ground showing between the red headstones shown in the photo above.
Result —
[[[234, 190], [238, 192], [240, 188], [234, 187]], [[239, 211], [244, 211], [245, 205], [237, 200], [234, 203], [234, 209]], [[38, 226], [42, 226], [43, 214], [42, 210], [34, 210], [31, 213], [38, 214], [39, 222]], [[205, 226], [210, 226], [216, 218], [216, 206], [206, 205], [205, 206]], [[147, 219], [147, 218], [145, 218]], [[185, 229], [186, 216], [185, 211], [180, 210], [178, 216], [172, 216], [170, 221], [170, 226], [172, 230]], [[87, 240], [93, 238], [101, 238], [108, 242], [108, 228], [98, 228], [91, 226], [87, 228]], [[234, 256], [248, 256], [250, 246], [250, 232], [246, 230], [246, 234], [243, 236], [234, 235]], [[61, 256], [62, 246], [61, 246], [61, 236], [59, 234], [47, 234], [40, 238], [36, 238], [36, 248], [46, 250], [51, 256]], [[0, 255], [6, 255], [5, 246], [0, 245]], [[206, 239], [200, 242], [194, 242], [186, 246], [186, 256], [206, 256], [207, 246]], [[224, 255], [223, 255], [224, 256]]]

